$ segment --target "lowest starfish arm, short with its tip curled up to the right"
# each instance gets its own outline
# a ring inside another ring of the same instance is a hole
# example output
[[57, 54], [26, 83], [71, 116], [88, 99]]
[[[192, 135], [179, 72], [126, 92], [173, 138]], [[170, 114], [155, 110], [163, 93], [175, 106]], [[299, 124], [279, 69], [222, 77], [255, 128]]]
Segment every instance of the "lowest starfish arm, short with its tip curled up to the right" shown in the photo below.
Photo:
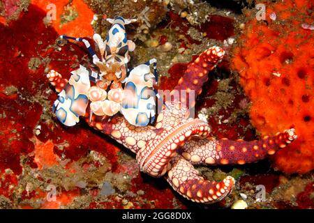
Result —
[[175, 191], [197, 203], [221, 201], [232, 192], [234, 186], [234, 178], [231, 176], [219, 183], [204, 180], [193, 165], [180, 155], [170, 160], [165, 178]]

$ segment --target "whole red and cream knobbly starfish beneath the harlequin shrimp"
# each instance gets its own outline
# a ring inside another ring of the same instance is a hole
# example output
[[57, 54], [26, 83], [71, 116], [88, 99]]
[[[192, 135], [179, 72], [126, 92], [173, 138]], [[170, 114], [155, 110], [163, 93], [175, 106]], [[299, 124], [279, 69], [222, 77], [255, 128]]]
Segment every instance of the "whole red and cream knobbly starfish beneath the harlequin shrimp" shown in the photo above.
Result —
[[[202, 85], [208, 79], [208, 72], [223, 58], [220, 47], [210, 47], [190, 63], [179, 79], [172, 95], [181, 90], [189, 93], [202, 92]], [[57, 89], [63, 89], [66, 79], [54, 73], [47, 75]], [[174, 97], [176, 98], [176, 97]], [[85, 119], [92, 128], [115, 139], [119, 144], [136, 154], [140, 170], [150, 176], [165, 177], [172, 188], [186, 199], [197, 203], [214, 203], [223, 200], [232, 192], [235, 180], [227, 176], [221, 182], [210, 181], [200, 176], [193, 165], [245, 164], [273, 155], [297, 138], [294, 129], [278, 132], [261, 140], [213, 139], [209, 136], [210, 126], [206, 121], [190, 118], [189, 105], [195, 100], [165, 102], [158, 114], [156, 124], [145, 127], [130, 125], [123, 116], [104, 119], [86, 114]]]

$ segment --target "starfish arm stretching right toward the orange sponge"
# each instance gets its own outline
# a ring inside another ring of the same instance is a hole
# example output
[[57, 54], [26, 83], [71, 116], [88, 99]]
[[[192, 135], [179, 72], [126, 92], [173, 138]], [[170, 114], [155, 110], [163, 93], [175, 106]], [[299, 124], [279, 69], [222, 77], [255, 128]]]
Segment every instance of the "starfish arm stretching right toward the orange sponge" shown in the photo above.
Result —
[[294, 139], [294, 129], [255, 141], [193, 139], [181, 148], [181, 155], [192, 164], [245, 164], [273, 155]]

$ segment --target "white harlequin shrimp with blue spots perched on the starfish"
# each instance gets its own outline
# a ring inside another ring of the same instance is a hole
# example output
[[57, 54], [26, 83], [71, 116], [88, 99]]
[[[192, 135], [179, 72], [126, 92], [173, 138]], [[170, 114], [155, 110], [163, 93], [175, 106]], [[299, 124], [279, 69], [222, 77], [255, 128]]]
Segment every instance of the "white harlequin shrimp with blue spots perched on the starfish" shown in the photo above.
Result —
[[[132, 125], [145, 126], [149, 121], [154, 122], [155, 96], [160, 98], [153, 87], [158, 82], [156, 59], [151, 59], [147, 63], [126, 71], [126, 63], [130, 61], [128, 51], [133, 51], [135, 44], [127, 40], [124, 24], [130, 24], [136, 20], [116, 17], [114, 20], [107, 19], [107, 21], [112, 23], [112, 26], [107, 33], [105, 42], [99, 34], [94, 34], [94, 41], [100, 49], [101, 61], [88, 40], [61, 36], [63, 39], [84, 43], [93, 63], [100, 70], [100, 72], [95, 72], [90, 68], [80, 66], [79, 69], [73, 71], [75, 76], [72, 76], [68, 83], [64, 83], [66, 87], [59, 93], [59, 98], [54, 103], [57, 118], [64, 125], [75, 125], [79, 121], [79, 116], [84, 116], [89, 100], [91, 101], [89, 104], [90, 117], [93, 114], [104, 117], [113, 116], [121, 111]], [[154, 75], [149, 68], [151, 64], [154, 64]], [[114, 68], [114, 72], [112, 72], [112, 68]], [[126, 77], [127, 74], [130, 74], [129, 77]], [[81, 76], [84, 78], [81, 79]], [[54, 83], [53, 80], [57, 80], [61, 75], [52, 70], [47, 77]], [[96, 85], [91, 86], [90, 81]], [[122, 86], [124, 83], [125, 89]], [[56, 85], [58, 86], [58, 84]], [[110, 91], [107, 92], [108, 86], [110, 86]], [[73, 112], [73, 106], [75, 107], [77, 104], [77, 94], [73, 94], [72, 91], [77, 91], [80, 98], [84, 98], [84, 101], [81, 102], [82, 110], [80, 112]], [[68, 93], [71, 94], [67, 95]]]

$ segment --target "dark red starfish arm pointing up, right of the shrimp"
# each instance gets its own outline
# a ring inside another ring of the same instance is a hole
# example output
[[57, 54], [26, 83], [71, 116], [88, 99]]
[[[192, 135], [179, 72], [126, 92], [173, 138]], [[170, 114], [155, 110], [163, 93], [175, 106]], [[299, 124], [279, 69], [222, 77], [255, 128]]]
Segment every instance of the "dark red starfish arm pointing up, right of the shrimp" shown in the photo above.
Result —
[[[224, 54], [225, 52], [222, 48], [215, 46], [202, 52], [202, 54], [200, 54], [200, 56], [198, 56], [193, 63], [188, 65], [184, 76], [179, 79], [179, 82], [174, 90], [186, 91], [186, 93], [195, 91], [196, 95], [200, 95], [200, 93], [202, 93], [203, 84], [208, 80], [207, 73], [216, 67], [218, 61], [223, 59]], [[177, 91], [172, 91], [172, 94]], [[181, 100], [181, 102], [184, 101]], [[190, 102], [187, 100], [186, 103], [187, 106], [191, 105], [190, 107], [194, 107], [195, 99], [193, 98]]]

